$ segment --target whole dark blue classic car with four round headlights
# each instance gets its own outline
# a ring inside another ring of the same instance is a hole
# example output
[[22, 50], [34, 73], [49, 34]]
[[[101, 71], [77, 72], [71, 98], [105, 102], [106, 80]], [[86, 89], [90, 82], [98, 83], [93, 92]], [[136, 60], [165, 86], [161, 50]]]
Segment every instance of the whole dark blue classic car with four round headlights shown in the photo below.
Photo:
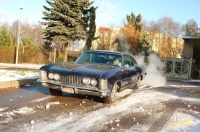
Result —
[[59, 96], [62, 92], [95, 95], [107, 103], [126, 88], [137, 88], [144, 77], [130, 54], [111, 51], [85, 51], [76, 62], [41, 68], [41, 84]]

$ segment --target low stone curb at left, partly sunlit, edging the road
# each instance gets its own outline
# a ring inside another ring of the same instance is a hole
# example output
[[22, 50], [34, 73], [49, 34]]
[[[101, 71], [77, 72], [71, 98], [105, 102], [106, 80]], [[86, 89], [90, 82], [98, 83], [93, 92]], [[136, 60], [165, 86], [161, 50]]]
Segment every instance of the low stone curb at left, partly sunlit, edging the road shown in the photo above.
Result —
[[28, 84], [35, 84], [38, 78], [0, 82], [0, 89], [18, 88]]

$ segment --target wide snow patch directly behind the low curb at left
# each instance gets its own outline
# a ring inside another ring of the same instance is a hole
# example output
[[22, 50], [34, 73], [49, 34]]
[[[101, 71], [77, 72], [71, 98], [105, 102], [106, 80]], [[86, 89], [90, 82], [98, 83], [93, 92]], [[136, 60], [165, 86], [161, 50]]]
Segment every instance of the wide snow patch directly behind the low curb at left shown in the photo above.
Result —
[[0, 82], [38, 78], [39, 72], [22, 70], [0, 70]]

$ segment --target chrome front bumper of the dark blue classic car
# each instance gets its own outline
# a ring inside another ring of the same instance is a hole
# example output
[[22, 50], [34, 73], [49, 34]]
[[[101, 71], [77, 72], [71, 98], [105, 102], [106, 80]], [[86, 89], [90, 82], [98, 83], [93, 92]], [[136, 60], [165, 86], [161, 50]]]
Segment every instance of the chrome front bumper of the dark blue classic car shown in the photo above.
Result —
[[[98, 89], [97, 87], [90, 87], [90, 86], [73, 86], [73, 85], [68, 85], [62, 82], [55, 82], [55, 81], [41, 81], [38, 80], [38, 82], [46, 88], [51, 88], [51, 89], [58, 89], [63, 92], [68, 92], [68, 89], [73, 89], [74, 94], [83, 94], [83, 95], [95, 95], [95, 96], [100, 96], [100, 97], [107, 97], [110, 94], [109, 89]], [[72, 92], [70, 92], [72, 93]]]

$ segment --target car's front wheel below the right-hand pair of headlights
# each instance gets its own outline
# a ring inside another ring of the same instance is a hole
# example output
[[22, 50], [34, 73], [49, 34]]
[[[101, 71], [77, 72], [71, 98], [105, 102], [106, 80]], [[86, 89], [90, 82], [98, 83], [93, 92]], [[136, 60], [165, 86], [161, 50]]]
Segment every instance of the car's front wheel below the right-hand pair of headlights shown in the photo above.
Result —
[[117, 99], [116, 95], [118, 93], [118, 89], [119, 89], [119, 86], [117, 85], [117, 83], [114, 84], [110, 95], [108, 97], [105, 97], [105, 103], [111, 104], [116, 101], [116, 99]]

